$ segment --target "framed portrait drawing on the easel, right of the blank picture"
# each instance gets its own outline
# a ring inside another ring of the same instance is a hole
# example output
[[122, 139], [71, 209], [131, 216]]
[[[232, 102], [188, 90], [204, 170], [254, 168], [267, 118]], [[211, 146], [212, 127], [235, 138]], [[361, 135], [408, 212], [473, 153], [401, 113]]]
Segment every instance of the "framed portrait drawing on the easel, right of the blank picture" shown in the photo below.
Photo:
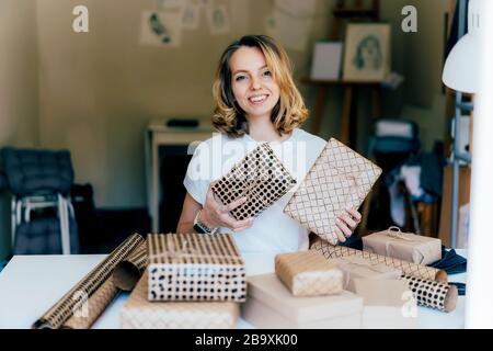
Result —
[[381, 81], [390, 71], [390, 24], [348, 23], [343, 80]]

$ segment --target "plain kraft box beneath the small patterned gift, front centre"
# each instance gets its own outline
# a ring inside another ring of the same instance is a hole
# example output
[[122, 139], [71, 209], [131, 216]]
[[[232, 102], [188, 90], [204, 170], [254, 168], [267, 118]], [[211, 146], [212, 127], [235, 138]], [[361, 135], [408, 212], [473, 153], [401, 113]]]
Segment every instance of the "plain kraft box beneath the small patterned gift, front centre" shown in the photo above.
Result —
[[274, 273], [248, 278], [249, 298], [242, 317], [257, 328], [359, 328], [363, 298], [337, 295], [296, 297]]

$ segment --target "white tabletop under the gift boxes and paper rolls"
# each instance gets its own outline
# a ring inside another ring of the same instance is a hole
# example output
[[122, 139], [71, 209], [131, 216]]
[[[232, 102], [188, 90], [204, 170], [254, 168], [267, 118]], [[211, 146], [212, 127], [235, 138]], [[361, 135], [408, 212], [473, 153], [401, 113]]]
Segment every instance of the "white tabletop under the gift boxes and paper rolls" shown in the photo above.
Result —
[[[463, 251], [457, 250], [466, 256]], [[32, 324], [79, 282], [105, 254], [15, 256], [0, 273], [0, 328], [31, 328]], [[274, 258], [244, 254], [246, 274], [274, 271]], [[466, 274], [449, 275], [450, 282], [466, 282]], [[119, 310], [128, 298], [119, 294], [93, 328], [117, 329]], [[419, 307], [419, 328], [463, 328], [465, 296], [451, 313]], [[238, 328], [253, 328], [240, 318]]]

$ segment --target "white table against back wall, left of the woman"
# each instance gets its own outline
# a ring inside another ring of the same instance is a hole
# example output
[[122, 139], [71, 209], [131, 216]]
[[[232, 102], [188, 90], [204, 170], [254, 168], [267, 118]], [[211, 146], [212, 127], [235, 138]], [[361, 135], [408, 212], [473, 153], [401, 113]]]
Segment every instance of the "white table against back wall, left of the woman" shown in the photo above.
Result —
[[162, 145], [190, 145], [211, 137], [213, 128], [200, 124], [196, 128], [168, 127], [167, 121], [152, 121], [146, 128], [146, 185], [147, 207], [151, 217], [152, 233], [159, 231], [159, 147]]

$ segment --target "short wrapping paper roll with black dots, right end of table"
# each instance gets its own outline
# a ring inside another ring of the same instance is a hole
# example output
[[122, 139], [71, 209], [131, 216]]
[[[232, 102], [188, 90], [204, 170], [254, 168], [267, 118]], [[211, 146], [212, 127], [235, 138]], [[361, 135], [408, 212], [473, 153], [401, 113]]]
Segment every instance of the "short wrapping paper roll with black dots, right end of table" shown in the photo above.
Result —
[[436, 308], [442, 312], [456, 309], [459, 296], [457, 286], [405, 274], [401, 279], [406, 281], [414, 298], [416, 298], [417, 305]]

